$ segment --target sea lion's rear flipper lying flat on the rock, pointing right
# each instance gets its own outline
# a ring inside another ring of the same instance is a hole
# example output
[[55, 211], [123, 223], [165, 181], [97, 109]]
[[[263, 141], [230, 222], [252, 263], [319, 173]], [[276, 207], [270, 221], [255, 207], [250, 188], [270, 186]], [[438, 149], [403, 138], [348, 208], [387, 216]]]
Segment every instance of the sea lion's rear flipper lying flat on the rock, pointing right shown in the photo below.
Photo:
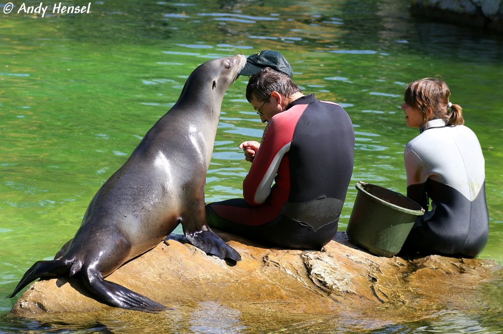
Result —
[[142, 296], [122, 285], [106, 281], [102, 275], [91, 269], [87, 269], [87, 275], [82, 271], [82, 281], [88, 286], [91, 292], [109, 305], [121, 308], [158, 313], [169, 309], [145, 296]]

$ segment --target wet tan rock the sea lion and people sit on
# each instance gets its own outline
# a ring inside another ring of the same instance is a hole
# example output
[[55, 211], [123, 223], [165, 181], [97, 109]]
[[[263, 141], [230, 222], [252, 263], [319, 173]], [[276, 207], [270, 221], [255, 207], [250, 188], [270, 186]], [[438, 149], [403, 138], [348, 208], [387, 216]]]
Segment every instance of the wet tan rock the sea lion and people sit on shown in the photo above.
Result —
[[[107, 280], [175, 309], [214, 303], [255, 313], [355, 317], [378, 309], [381, 320], [391, 321], [429, 316], [447, 305], [463, 308], [477, 298], [477, 286], [494, 279], [500, 269], [495, 262], [480, 259], [378, 257], [352, 245], [344, 232], [321, 251], [269, 249], [216, 232], [242, 261], [228, 264], [206, 255], [183, 236], [170, 235]], [[78, 280], [61, 277], [33, 283], [11, 315], [47, 318], [89, 312], [99, 318], [96, 311], [107, 310], [117, 308], [95, 300]]]

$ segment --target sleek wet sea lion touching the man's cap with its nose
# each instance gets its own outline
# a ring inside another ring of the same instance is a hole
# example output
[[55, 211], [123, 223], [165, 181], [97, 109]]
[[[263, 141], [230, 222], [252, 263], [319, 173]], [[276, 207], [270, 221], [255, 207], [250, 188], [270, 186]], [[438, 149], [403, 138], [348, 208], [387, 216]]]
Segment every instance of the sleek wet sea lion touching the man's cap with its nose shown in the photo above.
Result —
[[154, 248], [178, 224], [194, 246], [239, 261], [206, 224], [204, 187], [222, 99], [245, 63], [243, 55], [235, 55], [196, 68], [175, 105], [91, 200], [66, 250], [36, 262], [8, 297], [36, 278], [68, 275], [112, 306], [161, 311], [166, 307], [103, 277]]

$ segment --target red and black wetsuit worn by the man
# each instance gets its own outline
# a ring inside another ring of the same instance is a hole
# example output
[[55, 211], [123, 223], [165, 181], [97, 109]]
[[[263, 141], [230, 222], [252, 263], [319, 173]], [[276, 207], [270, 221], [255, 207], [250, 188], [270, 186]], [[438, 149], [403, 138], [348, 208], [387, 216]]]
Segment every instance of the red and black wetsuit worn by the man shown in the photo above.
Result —
[[208, 225], [267, 244], [320, 248], [337, 232], [354, 146], [342, 106], [313, 94], [295, 100], [269, 121], [244, 198], [208, 204]]

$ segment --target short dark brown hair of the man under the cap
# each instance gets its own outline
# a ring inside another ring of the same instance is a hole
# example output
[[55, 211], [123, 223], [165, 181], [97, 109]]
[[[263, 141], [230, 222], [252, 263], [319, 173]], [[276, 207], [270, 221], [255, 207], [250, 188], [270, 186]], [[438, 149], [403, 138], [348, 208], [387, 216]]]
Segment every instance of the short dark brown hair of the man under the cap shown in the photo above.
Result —
[[246, 99], [265, 101], [273, 91], [289, 97], [296, 92], [302, 92], [300, 88], [285, 73], [276, 71], [271, 67], [265, 67], [262, 71], [250, 77], [246, 86]]

